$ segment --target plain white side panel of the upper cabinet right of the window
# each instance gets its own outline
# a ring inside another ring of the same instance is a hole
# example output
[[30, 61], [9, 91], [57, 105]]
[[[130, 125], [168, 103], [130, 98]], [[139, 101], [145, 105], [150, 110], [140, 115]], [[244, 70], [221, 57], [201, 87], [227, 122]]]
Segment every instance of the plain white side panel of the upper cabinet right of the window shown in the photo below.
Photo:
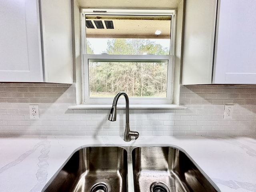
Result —
[[217, 0], [187, 0], [182, 84], [211, 84]]

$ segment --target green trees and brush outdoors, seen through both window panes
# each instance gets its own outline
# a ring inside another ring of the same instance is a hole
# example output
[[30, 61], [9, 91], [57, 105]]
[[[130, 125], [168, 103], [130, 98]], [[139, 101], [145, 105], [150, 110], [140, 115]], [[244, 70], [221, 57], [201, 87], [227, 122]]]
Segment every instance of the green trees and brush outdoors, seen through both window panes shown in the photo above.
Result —
[[[88, 49], [89, 50], [89, 49]], [[108, 41], [108, 54], [169, 54], [167, 48], [146, 39]], [[90, 96], [114, 96], [119, 91], [129, 96], [166, 96], [167, 63], [97, 62], [89, 63]]]

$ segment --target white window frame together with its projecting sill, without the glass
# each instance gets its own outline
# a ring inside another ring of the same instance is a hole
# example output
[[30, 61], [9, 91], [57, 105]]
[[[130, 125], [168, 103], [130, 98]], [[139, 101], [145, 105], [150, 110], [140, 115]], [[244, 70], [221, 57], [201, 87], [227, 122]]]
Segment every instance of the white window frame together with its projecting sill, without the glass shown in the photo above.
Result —
[[[96, 9], [82, 9], [82, 34], [85, 34], [85, 14], [99, 14], [95, 12]], [[102, 10], [102, 9], [101, 9]], [[104, 9], [105, 10], [105, 9]], [[97, 11], [97, 10], [96, 10]], [[100, 10], [98, 10], [100, 11]], [[172, 104], [173, 96], [173, 80], [174, 80], [174, 51], [175, 51], [175, 25], [176, 17], [175, 10], [106, 10], [108, 14], [158, 14], [158, 15], [172, 15], [171, 23], [171, 40], [170, 40], [170, 55], [96, 55], [96, 54], [85, 54], [86, 53], [86, 37], [82, 35], [82, 100], [83, 104], [79, 106], [71, 106], [70, 109], [76, 108], [109, 108], [113, 102], [113, 98], [97, 98], [89, 97], [89, 74], [88, 74], [88, 59], [138, 59], [138, 60], [168, 60], [168, 83], [167, 83], [167, 97], [166, 98], [129, 98], [130, 108], [134, 109], [154, 109], [154, 108], [182, 108], [178, 105]], [[125, 101], [123, 98], [120, 98], [118, 101], [123, 107]]]

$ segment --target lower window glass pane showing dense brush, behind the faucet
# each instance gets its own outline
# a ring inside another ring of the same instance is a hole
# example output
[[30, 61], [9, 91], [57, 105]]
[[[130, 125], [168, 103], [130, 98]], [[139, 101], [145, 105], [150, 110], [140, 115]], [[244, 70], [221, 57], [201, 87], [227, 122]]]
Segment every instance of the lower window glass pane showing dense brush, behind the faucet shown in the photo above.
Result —
[[125, 61], [89, 59], [90, 97], [166, 97], [168, 60]]

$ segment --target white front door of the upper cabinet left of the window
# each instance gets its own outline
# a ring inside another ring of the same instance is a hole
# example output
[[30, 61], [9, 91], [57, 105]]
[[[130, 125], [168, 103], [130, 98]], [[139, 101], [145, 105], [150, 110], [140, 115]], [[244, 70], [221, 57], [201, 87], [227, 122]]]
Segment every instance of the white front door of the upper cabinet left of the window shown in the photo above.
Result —
[[0, 82], [43, 82], [38, 0], [0, 0]]

